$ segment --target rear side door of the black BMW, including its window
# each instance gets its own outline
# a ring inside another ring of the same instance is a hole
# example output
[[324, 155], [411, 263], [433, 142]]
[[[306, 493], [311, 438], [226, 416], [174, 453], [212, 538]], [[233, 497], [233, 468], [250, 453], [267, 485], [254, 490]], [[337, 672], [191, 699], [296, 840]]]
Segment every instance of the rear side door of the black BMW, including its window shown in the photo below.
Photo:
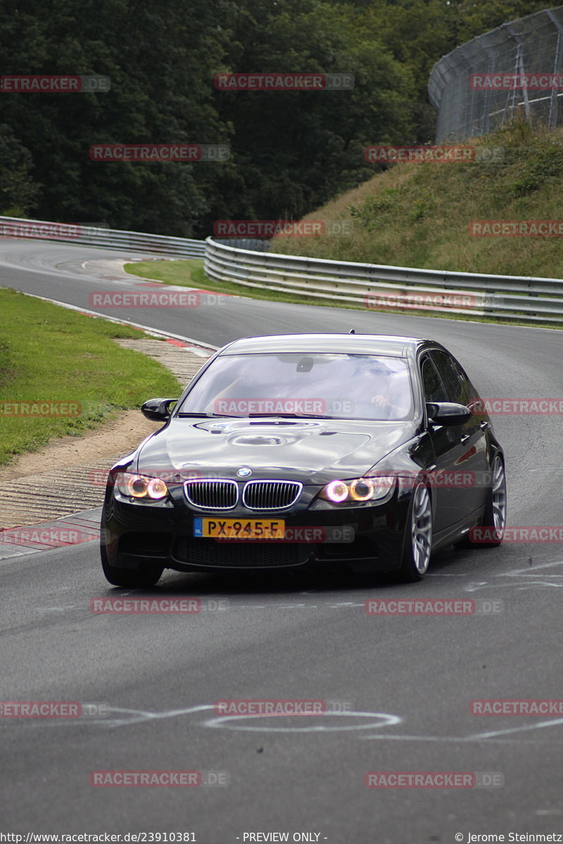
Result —
[[[457, 360], [445, 349], [433, 349], [430, 357], [436, 364], [447, 392], [447, 400], [471, 407], [475, 401], [474, 388]], [[482, 417], [475, 414], [464, 425], [452, 428], [452, 434], [459, 437], [462, 451], [456, 452], [452, 465], [453, 483], [459, 483], [462, 495], [459, 505], [463, 515], [477, 510], [482, 504], [488, 479], [489, 460], [485, 425]], [[452, 455], [453, 456], [453, 455]]]

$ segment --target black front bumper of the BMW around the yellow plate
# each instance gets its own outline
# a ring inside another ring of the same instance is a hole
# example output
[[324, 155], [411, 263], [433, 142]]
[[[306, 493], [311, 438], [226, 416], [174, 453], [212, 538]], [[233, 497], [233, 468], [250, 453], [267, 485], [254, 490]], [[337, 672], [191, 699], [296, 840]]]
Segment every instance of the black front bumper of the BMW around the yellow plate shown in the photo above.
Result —
[[[332, 506], [324, 501], [289, 511], [259, 512], [236, 507], [228, 513], [196, 511], [181, 495], [172, 506], [131, 504], [111, 490], [101, 522], [101, 542], [111, 565], [136, 568], [144, 560], [176, 571], [326, 568], [349, 565], [355, 571], [397, 571], [403, 553], [409, 496], [383, 503]], [[284, 518], [291, 540], [201, 538], [194, 518]]]

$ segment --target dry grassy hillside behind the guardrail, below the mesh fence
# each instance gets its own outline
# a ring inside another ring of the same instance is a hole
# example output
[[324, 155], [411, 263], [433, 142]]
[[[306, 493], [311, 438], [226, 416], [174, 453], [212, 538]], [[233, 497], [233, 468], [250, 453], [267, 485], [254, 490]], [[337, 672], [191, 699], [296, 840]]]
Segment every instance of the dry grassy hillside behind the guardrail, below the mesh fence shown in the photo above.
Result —
[[472, 142], [501, 161], [398, 163], [305, 219], [353, 221], [346, 237], [276, 237], [271, 252], [563, 278], [563, 236], [474, 237], [472, 220], [563, 220], [563, 128], [517, 122]]

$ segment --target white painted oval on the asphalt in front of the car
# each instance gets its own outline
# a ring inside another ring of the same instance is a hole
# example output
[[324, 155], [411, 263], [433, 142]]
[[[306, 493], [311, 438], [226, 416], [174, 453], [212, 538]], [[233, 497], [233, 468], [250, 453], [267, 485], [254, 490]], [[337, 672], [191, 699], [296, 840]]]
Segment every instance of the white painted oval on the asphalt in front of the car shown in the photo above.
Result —
[[[329, 727], [328, 725], [318, 724], [319, 718], [369, 718], [368, 723], [364, 724], [350, 724], [348, 727], [344, 724], [338, 727]], [[262, 724], [260, 727], [250, 727], [242, 724], [242, 721], [248, 719], [252, 721], [263, 721], [268, 719], [272, 722], [277, 718], [299, 718], [303, 722], [302, 727], [270, 727], [268, 724]], [[374, 721], [374, 718], [377, 720]], [[311, 720], [315, 720], [315, 724], [311, 725]], [[205, 727], [214, 727], [225, 730], [244, 730], [251, 733], [343, 733], [350, 730], [373, 730], [382, 727], [392, 727], [394, 724], [401, 722], [398, 715], [389, 715], [387, 712], [325, 712], [322, 715], [221, 715], [217, 718], [211, 718], [204, 722]]]

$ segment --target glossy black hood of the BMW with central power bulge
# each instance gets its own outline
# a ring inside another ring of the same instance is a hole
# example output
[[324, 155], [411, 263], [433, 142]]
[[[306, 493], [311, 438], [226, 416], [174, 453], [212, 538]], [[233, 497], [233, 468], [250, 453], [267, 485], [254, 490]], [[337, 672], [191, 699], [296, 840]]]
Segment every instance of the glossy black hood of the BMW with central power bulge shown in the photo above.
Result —
[[348, 419], [179, 419], [139, 446], [140, 473], [182, 477], [299, 479], [322, 484], [360, 477], [414, 436], [414, 422]]

